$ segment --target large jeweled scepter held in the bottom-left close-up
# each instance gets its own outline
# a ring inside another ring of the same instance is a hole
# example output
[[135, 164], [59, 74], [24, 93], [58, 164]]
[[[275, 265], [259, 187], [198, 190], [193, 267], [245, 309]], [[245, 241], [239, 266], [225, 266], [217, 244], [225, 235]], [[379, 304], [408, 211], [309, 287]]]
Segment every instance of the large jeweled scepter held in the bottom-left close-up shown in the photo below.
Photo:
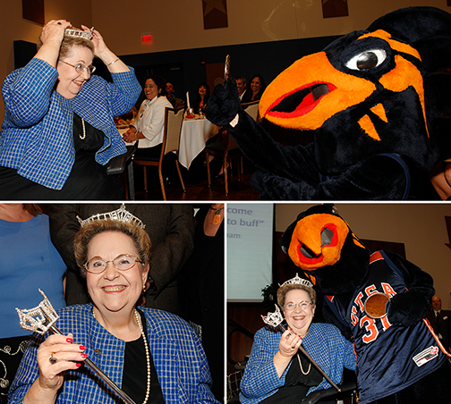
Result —
[[[31, 332], [38, 332], [44, 335], [47, 331], [51, 331], [56, 335], [64, 335], [58, 327], [55, 326], [56, 320], [59, 316], [56, 314], [54, 307], [47, 299], [46, 294], [39, 289], [39, 292], [44, 297], [37, 307], [29, 310], [16, 307], [19, 319], [21, 321], [21, 328]], [[126, 404], [135, 404], [135, 402], [123, 392], [107, 375], [105, 375], [100, 368], [89, 358], [85, 359], [85, 364], [102, 379]]]

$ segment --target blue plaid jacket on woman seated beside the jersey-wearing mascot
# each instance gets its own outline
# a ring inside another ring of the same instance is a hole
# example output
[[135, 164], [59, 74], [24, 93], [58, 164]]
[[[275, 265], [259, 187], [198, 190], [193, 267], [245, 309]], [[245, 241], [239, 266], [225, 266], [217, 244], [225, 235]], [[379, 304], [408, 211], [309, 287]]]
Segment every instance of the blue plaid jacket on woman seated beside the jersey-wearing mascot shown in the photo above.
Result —
[[[289, 366], [279, 378], [273, 360], [281, 336], [282, 332], [269, 327], [255, 333], [251, 358], [244, 369], [240, 386], [242, 404], [258, 403], [285, 385]], [[335, 325], [311, 324], [309, 333], [302, 339], [302, 346], [336, 384], [341, 382], [344, 367], [355, 370], [353, 344], [345, 339]], [[309, 393], [329, 387], [331, 385], [323, 379], [319, 386], [311, 387]]]

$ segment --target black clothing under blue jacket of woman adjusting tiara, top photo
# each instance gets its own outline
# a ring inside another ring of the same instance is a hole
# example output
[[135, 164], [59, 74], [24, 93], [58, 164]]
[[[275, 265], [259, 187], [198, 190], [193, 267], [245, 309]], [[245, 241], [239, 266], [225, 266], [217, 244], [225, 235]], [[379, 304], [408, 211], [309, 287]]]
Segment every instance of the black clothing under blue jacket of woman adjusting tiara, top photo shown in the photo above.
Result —
[[49, 189], [37, 182], [23, 178], [16, 169], [0, 167], [2, 199], [123, 199], [123, 189], [119, 178], [116, 175], [107, 175], [106, 165], [96, 162], [96, 153], [105, 141], [103, 131], [94, 128], [86, 121], [84, 123], [86, 137], [81, 139], [83, 137], [81, 117], [73, 114], [75, 161], [63, 189]]

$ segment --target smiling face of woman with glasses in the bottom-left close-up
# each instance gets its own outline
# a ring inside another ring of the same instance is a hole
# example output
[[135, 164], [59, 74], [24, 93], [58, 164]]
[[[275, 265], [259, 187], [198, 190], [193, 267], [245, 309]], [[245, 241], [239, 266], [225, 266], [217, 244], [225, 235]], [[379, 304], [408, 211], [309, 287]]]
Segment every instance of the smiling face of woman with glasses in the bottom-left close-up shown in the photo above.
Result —
[[108, 261], [103, 273], [86, 273], [89, 296], [102, 314], [111, 314], [123, 308], [132, 309], [147, 280], [149, 265], [142, 268], [142, 264], [137, 262], [126, 271], [115, 268], [110, 261], [123, 254], [139, 257], [132, 238], [123, 232], [105, 231], [89, 242], [88, 261], [94, 257]]

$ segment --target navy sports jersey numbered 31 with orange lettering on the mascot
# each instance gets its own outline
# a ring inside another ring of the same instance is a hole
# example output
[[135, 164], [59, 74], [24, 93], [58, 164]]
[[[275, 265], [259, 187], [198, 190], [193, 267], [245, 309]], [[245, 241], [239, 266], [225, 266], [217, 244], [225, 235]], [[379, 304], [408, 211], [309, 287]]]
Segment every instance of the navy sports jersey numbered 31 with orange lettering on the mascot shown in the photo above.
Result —
[[359, 402], [381, 399], [429, 375], [447, 360], [447, 353], [426, 319], [406, 327], [390, 324], [387, 316], [371, 318], [366, 299], [376, 292], [389, 297], [407, 291], [401, 272], [384, 251], [370, 257], [370, 271], [353, 299], [328, 296], [329, 307], [352, 330], [357, 354]]

